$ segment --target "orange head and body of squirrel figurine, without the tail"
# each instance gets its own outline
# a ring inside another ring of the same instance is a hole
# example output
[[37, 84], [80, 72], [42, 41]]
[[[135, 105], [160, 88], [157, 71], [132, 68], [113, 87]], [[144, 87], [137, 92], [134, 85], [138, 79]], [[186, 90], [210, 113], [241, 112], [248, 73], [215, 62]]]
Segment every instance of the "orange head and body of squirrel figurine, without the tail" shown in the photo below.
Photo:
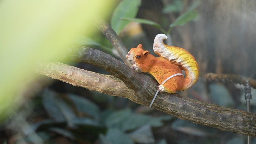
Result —
[[[148, 50], [143, 50], [141, 44], [137, 48], [132, 48], [126, 57], [133, 63], [132, 68], [134, 70], [150, 73], [160, 84], [169, 76], [182, 73], [179, 65], [172, 64], [163, 57], [154, 57], [154, 55], [149, 54]], [[184, 77], [178, 75], [166, 81], [165, 84], [159, 85], [158, 89], [161, 92], [175, 93], [182, 89], [184, 82]]]

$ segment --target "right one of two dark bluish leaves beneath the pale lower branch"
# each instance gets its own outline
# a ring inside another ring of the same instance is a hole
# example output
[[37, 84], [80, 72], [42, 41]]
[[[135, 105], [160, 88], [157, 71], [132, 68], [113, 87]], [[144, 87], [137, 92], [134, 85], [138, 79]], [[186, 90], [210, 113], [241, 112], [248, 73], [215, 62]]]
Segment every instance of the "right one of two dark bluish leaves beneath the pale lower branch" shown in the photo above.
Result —
[[84, 112], [92, 117], [94, 117], [96, 120], [100, 117], [100, 108], [90, 100], [74, 95], [74, 94], [68, 94], [68, 97], [70, 100], [72, 100], [75, 103], [75, 106], [78, 111]]

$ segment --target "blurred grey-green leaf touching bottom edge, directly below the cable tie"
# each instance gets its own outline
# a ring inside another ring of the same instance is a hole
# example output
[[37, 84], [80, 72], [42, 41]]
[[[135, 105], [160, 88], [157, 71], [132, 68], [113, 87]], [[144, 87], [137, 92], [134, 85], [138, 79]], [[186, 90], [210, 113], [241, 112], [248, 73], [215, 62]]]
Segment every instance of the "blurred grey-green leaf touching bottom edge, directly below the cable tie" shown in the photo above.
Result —
[[135, 143], [151, 144], [155, 143], [154, 135], [150, 125], [145, 125], [128, 134]]

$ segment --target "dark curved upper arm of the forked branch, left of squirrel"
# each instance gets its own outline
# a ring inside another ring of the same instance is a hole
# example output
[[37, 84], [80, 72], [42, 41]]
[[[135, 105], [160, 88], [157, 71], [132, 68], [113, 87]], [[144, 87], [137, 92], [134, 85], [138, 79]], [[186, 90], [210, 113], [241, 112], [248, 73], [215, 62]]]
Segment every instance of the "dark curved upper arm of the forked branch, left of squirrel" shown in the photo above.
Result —
[[154, 84], [156, 84], [156, 81], [153, 79], [149, 79], [149, 81], [144, 80], [151, 78], [149, 75], [135, 73], [129, 66], [100, 50], [85, 46], [73, 46], [69, 52], [70, 54], [66, 55], [65, 60], [98, 66], [121, 79], [130, 89], [141, 90], [145, 82], [147, 85], [151, 85], [151, 87], [154, 87]]

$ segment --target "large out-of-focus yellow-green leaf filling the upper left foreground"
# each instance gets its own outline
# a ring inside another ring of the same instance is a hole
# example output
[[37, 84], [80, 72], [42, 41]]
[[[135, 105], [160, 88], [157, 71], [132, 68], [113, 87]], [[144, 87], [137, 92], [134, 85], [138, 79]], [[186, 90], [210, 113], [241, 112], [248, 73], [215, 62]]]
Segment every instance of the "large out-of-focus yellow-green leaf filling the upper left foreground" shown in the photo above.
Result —
[[113, 2], [1, 0], [0, 121], [19, 106], [22, 92], [38, 76], [34, 69], [39, 63], [62, 59], [63, 48], [76, 35], [90, 36], [95, 16], [107, 16]]

